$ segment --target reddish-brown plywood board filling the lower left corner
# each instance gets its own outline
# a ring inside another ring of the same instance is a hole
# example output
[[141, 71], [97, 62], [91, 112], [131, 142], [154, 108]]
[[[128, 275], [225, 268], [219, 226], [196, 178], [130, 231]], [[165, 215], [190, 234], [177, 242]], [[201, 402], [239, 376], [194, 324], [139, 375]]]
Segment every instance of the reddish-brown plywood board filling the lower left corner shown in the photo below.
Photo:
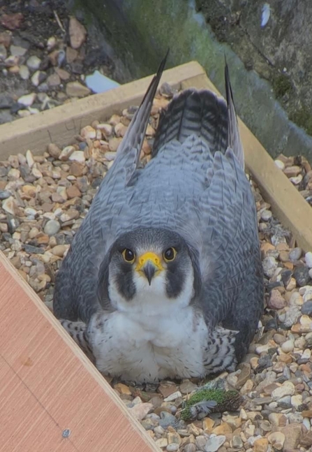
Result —
[[0, 275], [1, 450], [159, 451], [1, 252]]

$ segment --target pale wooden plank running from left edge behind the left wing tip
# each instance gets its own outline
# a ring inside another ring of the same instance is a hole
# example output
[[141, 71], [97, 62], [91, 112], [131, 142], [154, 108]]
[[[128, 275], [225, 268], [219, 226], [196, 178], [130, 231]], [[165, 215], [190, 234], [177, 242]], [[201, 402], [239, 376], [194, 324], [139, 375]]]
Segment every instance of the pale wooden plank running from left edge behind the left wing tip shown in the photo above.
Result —
[[[164, 71], [161, 83], [179, 87], [184, 80], [205, 73], [200, 64], [193, 61]], [[52, 110], [45, 110], [29, 117], [16, 119], [0, 126], [0, 157], [26, 152], [42, 154], [49, 143], [60, 147], [73, 143], [80, 129], [94, 119], [108, 119], [128, 105], [139, 105], [152, 76], [121, 85], [102, 94], [94, 94]]]

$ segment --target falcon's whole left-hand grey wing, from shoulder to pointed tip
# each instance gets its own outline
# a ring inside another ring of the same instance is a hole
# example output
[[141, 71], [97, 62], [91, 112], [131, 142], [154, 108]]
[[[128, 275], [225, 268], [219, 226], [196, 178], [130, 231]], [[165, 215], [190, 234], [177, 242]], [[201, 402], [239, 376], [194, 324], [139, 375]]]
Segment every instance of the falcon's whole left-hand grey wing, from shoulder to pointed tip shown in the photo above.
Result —
[[88, 321], [98, 309], [98, 269], [114, 241], [112, 224], [121, 210], [126, 211], [127, 191], [131, 191], [131, 180], [138, 166], [151, 105], [166, 58], [167, 55], [135, 112], [114, 164], [101, 183], [57, 274], [53, 309], [58, 318]]

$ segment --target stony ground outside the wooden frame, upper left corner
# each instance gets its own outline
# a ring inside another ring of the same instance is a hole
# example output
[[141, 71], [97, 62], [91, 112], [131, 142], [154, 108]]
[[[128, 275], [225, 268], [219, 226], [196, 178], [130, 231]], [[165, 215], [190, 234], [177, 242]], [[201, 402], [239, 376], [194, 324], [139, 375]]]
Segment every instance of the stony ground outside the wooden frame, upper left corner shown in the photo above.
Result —
[[0, 1], [0, 124], [105, 90], [114, 82], [103, 75], [119, 78], [105, 43], [65, 3]]

